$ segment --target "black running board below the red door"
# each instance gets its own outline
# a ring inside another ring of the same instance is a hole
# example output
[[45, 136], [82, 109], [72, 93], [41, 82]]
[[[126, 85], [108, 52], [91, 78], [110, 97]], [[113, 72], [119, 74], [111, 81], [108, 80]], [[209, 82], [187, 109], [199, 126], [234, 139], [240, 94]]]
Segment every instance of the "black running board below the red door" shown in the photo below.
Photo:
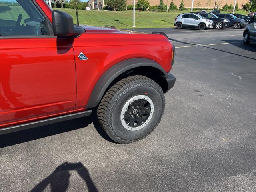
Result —
[[49, 125], [49, 124], [53, 124], [53, 123], [58, 123], [58, 122], [62, 122], [62, 121], [67, 121], [67, 120], [71, 120], [71, 119], [76, 119], [76, 118], [80, 118], [80, 117], [85, 117], [85, 116], [89, 116], [91, 113], [92, 113], [92, 110], [87, 110], [87, 111], [78, 112], [78, 113], [74, 113], [74, 114], [68, 114], [68, 115], [64, 115], [64, 116], [53, 117], [53, 118], [30, 122], [30, 123], [26, 123], [26, 124], [20, 124], [20, 125], [15, 125], [15, 126], [11, 126], [11, 127], [6, 127], [6, 128], [0, 129], [0, 135], [12, 133], [12, 132], [16, 132], [16, 131], [21, 131], [21, 130], [26, 130], [26, 129], [31, 129], [31, 128], [35, 128], [35, 127], [39, 127], [39, 126]]

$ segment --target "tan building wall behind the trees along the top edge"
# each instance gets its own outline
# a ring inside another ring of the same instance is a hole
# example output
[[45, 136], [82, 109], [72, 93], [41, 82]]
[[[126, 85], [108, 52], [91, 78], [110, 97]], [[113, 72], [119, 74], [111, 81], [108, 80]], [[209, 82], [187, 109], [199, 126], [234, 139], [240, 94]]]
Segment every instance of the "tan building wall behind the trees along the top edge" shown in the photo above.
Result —
[[[135, 4], [137, 3], [138, 0], [135, 0]], [[193, 7], [196, 8], [196, 4], [198, 4], [198, 2], [200, 2], [201, 6], [199, 6], [199, 8], [209, 8], [212, 9], [214, 8], [214, 4], [215, 4], [215, 0], [210, 0], [210, 5], [208, 5], [209, 0], [194, 0], [194, 4]], [[160, 0], [148, 0], [148, 2], [150, 3], [150, 6], [153, 5], [159, 5]], [[174, 4], [177, 5], [179, 7], [181, 0], [173, 0]], [[189, 8], [192, 6], [192, 0], [183, 0], [185, 7]], [[220, 4], [220, 8], [222, 8], [225, 4], [228, 5], [232, 5], [234, 6], [234, 0], [217, 0], [217, 2], [221, 2]], [[236, 2], [238, 3], [238, 8], [242, 8], [242, 5], [246, 4], [247, 2], [249, 2], [249, 0], [236, 0]], [[171, 0], [164, 0], [164, 4], [168, 4], [168, 6], [170, 5]], [[127, 0], [127, 5], [133, 5], [133, 0]], [[217, 4], [216, 4], [217, 7]]]

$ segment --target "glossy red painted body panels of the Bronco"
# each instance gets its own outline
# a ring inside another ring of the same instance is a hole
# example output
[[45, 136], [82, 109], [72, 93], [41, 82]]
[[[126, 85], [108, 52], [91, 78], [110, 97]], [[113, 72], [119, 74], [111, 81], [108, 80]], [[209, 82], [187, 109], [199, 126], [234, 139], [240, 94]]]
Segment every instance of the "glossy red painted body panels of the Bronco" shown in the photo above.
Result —
[[[52, 21], [44, 0], [36, 2]], [[96, 82], [123, 60], [148, 58], [171, 70], [165, 36], [83, 27], [74, 39], [0, 39], [0, 127], [85, 110]]]

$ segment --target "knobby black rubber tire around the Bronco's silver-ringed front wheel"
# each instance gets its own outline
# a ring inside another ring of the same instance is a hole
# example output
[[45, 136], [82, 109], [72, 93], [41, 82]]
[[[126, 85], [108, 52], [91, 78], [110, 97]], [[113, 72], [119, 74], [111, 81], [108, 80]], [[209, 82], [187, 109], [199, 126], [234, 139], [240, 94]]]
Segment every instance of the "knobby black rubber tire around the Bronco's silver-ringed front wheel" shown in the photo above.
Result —
[[[153, 104], [152, 118], [139, 130], [127, 130], [121, 123], [121, 111], [134, 96], [148, 96]], [[148, 136], [160, 122], [164, 113], [165, 98], [162, 88], [150, 78], [141, 75], [126, 77], [114, 84], [103, 96], [97, 109], [100, 126], [115, 142], [128, 144]]]

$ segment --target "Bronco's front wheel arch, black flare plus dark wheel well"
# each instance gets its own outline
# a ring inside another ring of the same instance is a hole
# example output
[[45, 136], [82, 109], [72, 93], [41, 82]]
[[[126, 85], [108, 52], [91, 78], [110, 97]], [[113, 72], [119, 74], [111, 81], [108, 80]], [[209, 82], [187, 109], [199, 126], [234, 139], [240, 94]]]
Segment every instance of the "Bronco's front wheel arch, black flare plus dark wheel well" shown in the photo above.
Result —
[[119, 62], [108, 69], [95, 84], [87, 108], [96, 107], [105, 92], [116, 82], [130, 75], [144, 75], [156, 81], [164, 92], [168, 90], [168, 84], [165, 80], [166, 71], [160, 64], [146, 58], [133, 58]]

